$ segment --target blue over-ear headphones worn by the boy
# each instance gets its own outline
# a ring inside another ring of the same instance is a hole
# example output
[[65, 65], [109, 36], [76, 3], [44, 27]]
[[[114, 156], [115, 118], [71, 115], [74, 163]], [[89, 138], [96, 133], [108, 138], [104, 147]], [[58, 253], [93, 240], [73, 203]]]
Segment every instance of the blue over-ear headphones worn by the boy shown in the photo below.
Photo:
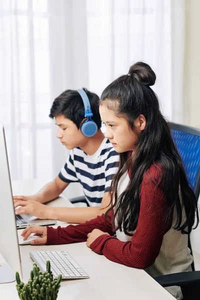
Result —
[[93, 136], [97, 131], [96, 123], [91, 119], [93, 115], [86, 92], [83, 89], [76, 89], [84, 104], [84, 116], [87, 118], [81, 125], [80, 130], [84, 136]]

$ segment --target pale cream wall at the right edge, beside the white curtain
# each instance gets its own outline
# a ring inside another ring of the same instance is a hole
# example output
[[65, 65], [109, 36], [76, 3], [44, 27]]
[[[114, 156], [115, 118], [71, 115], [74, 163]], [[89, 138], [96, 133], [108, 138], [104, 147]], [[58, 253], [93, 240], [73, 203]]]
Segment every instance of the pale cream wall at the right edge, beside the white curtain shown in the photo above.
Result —
[[[185, 63], [184, 63], [185, 123], [187, 125], [197, 127], [197, 128], [200, 128], [199, 11], [200, 11], [199, 0], [185, 0]], [[191, 244], [192, 244], [192, 250], [200, 254], [200, 224], [191, 233]]]

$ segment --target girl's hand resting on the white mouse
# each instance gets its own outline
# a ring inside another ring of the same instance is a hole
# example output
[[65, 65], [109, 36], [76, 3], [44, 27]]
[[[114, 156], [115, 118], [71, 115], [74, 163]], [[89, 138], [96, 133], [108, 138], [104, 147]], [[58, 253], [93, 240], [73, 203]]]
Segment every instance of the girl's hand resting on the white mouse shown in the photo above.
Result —
[[41, 235], [41, 238], [36, 238], [34, 240], [31, 240], [31, 242], [30, 242], [31, 245], [38, 245], [41, 243], [46, 243], [46, 240], [47, 240], [47, 228], [46, 227], [37, 226], [37, 225], [27, 226], [21, 233], [21, 236], [23, 236], [23, 240], [25, 240], [31, 233]]

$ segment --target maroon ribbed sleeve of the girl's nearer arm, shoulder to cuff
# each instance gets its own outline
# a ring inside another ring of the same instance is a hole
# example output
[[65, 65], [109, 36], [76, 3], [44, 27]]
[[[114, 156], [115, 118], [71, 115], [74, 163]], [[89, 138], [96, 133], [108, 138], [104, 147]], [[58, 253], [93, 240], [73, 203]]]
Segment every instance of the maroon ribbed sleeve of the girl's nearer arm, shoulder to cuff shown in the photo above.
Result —
[[[150, 176], [149, 176], [150, 175]], [[146, 268], [157, 257], [163, 235], [171, 227], [165, 228], [166, 202], [162, 190], [150, 177], [158, 179], [160, 171], [155, 166], [144, 174], [140, 187], [140, 212], [137, 227], [131, 241], [120, 241], [114, 236], [100, 235], [90, 248], [108, 259], [130, 267]]]

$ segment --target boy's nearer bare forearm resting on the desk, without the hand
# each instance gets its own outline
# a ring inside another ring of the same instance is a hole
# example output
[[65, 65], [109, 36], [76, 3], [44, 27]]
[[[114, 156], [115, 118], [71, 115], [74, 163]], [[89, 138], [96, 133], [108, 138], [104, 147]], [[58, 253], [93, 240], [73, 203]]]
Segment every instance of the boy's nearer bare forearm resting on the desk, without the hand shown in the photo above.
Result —
[[[100, 207], [51, 207], [48, 218], [68, 223], [83, 223], [95, 218], [99, 209]], [[101, 211], [105, 212], [103, 209]]]

